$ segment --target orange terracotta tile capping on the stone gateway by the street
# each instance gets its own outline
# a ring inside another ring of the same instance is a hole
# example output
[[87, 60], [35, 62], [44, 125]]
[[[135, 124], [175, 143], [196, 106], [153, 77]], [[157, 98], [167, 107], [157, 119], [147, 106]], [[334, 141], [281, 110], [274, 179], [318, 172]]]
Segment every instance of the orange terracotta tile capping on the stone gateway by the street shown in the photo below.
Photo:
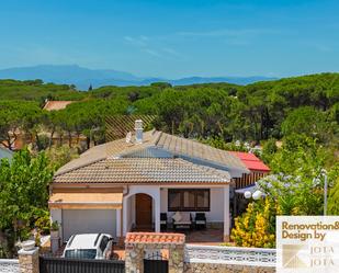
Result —
[[182, 234], [128, 232], [125, 243], [176, 243], [182, 244], [185, 236]]

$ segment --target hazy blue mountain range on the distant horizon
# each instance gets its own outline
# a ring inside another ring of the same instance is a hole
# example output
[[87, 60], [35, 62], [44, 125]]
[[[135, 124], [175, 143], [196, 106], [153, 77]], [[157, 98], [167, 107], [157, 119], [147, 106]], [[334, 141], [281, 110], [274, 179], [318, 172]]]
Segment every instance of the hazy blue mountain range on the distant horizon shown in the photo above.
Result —
[[194, 83], [229, 82], [248, 84], [256, 81], [274, 80], [269, 77], [189, 77], [182, 79], [142, 78], [128, 72], [111, 69], [88, 69], [77, 65], [53, 66], [41, 65], [34, 67], [18, 67], [0, 69], [0, 79], [34, 80], [44, 82], [76, 84], [80, 90], [87, 90], [90, 84], [98, 88], [102, 86], [148, 86], [152, 82], [166, 81], [172, 86], [187, 86]]

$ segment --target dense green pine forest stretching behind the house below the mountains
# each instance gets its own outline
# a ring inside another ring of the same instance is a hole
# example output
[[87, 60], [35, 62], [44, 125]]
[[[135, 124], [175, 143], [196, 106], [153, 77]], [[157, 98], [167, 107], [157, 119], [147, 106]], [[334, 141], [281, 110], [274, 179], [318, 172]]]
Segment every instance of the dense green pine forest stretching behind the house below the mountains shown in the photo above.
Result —
[[[154, 125], [158, 129], [192, 138], [258, 144], [280, 139], [283, 134], [304, 133], [325, 145], [338, 144], [338, 73], [246, 87], [229, 83], [171, 87], [156, 82], [148, 87], [102, 87], [88, 92], [39, 80], [0, 80], [0, 100], [35, 100], [39, 105], [46, 98], [79, 101], [60, 113], [41, 113], [39, 120], [46, 128], [67, 138], [70, 132], [84, 134], [88, 143], [90, 138], [95, 144], [104, 141], [104, 115], [133, 113], [157, 115]], [[15, 124], [15, 118], [12, 120]], [[26, 128], [33, 136], [41, 129], [35, 124]], [[0, 139], [3, 137], [4, 134]]]

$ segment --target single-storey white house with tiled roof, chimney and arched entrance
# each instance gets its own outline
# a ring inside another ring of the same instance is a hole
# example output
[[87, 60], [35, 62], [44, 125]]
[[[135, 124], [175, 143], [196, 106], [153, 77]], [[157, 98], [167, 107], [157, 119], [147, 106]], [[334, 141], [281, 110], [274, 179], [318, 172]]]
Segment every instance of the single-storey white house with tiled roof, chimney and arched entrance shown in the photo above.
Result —
[[159, 130], [95, 146], [61, 167], [50, 185], [52, 220], [61, 239], [76, 232], [159, 232], [160, 214], [205, 213], [208, 225], [230, 230], [231, 181], [250, 173], [233, 153]]

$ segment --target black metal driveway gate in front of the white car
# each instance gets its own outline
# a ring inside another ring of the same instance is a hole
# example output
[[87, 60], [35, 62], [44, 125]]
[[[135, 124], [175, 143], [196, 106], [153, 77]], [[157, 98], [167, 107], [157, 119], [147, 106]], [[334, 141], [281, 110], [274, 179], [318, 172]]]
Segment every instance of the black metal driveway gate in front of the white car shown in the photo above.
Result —
[[39, 273], [124, 273], [125, 262], [39, 257]]

